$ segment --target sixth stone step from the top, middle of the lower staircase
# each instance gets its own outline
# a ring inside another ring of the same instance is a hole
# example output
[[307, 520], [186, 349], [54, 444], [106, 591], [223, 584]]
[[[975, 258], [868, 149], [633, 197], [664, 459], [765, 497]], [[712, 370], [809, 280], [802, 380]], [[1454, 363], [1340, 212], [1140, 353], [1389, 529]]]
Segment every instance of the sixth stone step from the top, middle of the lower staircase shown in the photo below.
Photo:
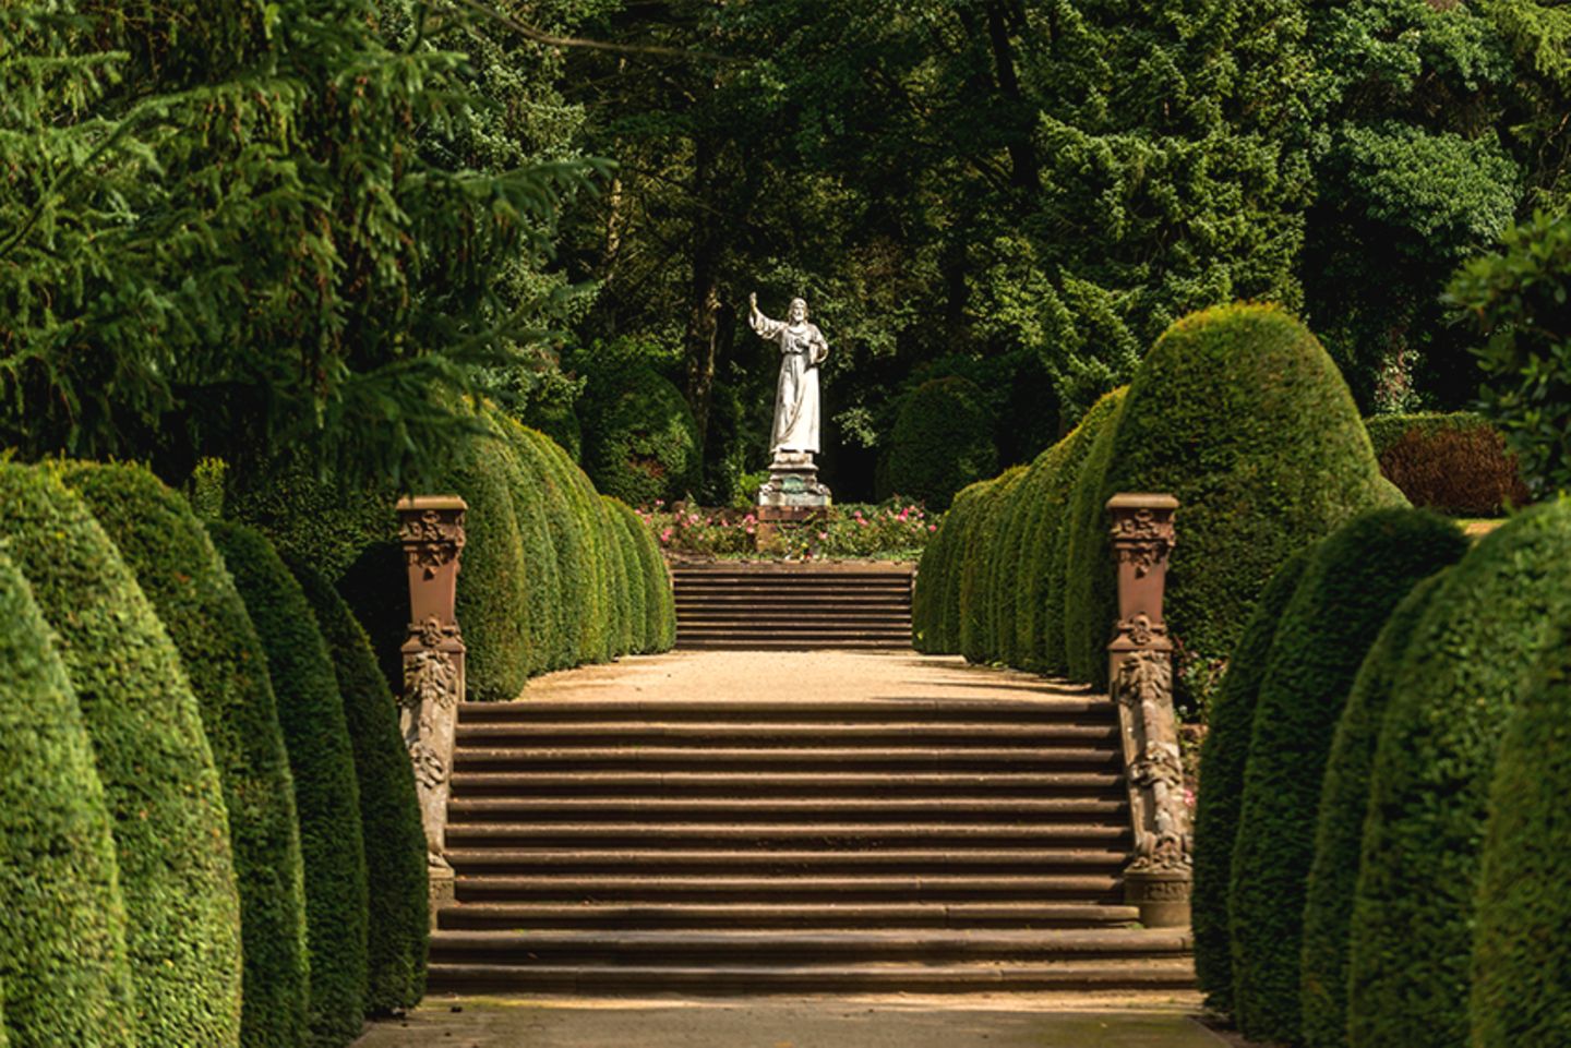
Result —
[[971, 822], [798, 822], [716, 825], [639, 822], [449, 822], [449, 848], [474, 847], [698, 847], [726, 844], [734, 848], [809, 844], [828, 848], [935, 847], [998, 848], [1051, 845], [1114, 845], [1130, 839], [1123, 825], [1097, 823], [971, 823]]

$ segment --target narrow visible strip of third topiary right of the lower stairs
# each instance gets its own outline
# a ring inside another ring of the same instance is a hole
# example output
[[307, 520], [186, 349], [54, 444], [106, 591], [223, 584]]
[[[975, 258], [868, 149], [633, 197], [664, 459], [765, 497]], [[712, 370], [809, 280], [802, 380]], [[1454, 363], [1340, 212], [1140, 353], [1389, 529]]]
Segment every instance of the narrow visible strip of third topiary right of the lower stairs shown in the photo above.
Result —
[[1359, 842], [1368, 814], [1370, 765], [1397, 669], [1408, 654], [1419, 617], [1444, 578], [1444, 570], [1425, 578], [1386, 619], [1337, 721], [1315, 819], [1315, 863], [1304, 892], [1299, 1010], [1306, 1048], [1343, 1048], [1348, 1043], [1348, 921], [1359, 880]]

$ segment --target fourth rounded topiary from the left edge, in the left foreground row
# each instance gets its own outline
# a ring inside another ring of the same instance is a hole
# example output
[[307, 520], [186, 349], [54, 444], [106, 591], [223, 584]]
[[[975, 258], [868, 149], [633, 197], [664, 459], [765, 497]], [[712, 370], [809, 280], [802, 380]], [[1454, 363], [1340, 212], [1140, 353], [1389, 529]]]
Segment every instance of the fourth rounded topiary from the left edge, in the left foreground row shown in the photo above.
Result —
[[300, 814], [311, 1032], [360, 1035], [366, 995], [366, 850], [360, 786], [333, 661], [300, 584], [261, 533], [207, 526], [267, 652]]

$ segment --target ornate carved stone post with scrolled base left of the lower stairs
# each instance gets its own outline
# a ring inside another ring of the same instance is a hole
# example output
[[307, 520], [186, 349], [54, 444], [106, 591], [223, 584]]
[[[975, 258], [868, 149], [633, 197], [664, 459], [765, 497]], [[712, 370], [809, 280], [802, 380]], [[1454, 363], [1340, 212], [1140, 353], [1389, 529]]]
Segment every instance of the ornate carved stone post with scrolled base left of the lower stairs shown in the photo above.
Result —
[[408, 572], [408, 638], [404, 641], [404, 693], [399, 727], [415, 765], [415, 789], [426, 826], [430, 913], [452, 900], [452, 867], [443, 858], [448, 826], [452, 735], [463, 698], [463, 638], [456, 614], [463, 512], [452, 495], [399, 500], [399, 537]]

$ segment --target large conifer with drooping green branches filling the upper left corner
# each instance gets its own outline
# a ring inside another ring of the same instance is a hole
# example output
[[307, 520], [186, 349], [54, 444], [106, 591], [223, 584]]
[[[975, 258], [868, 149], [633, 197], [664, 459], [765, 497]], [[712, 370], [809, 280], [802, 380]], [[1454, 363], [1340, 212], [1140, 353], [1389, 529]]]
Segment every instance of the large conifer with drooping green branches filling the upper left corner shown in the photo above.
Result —
[[540, 316], [500, 277], [539, 266], [588, 165], [471, 165], [495, 99], [413, 16], [6, 5], [0, 443], [429, 479], [452, 394]]

